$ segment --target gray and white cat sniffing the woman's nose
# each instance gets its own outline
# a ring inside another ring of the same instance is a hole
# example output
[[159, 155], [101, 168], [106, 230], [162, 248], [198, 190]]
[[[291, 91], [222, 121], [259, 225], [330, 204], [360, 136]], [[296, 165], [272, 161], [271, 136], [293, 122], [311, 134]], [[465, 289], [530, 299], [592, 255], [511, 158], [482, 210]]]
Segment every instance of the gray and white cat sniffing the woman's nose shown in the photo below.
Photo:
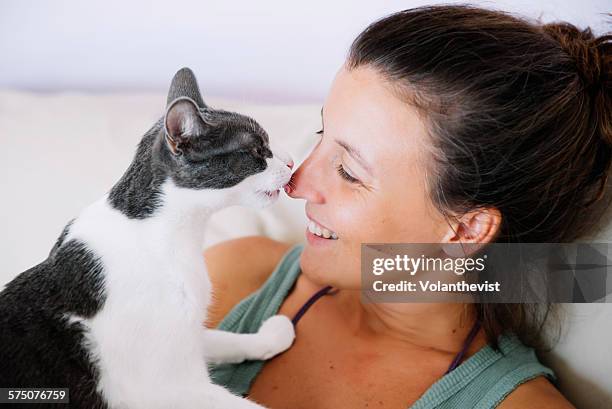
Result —
[[209, 107], [179, 70], [123, 177], [0, 293], [0, 387], [67, 387], [61, 408], [262, 408], [212, 383], [207, 363], [269, 359], [293, 325], [205, 328], [201, 246], [214, 211], [273, 203], [292, 166], [256, 121]]

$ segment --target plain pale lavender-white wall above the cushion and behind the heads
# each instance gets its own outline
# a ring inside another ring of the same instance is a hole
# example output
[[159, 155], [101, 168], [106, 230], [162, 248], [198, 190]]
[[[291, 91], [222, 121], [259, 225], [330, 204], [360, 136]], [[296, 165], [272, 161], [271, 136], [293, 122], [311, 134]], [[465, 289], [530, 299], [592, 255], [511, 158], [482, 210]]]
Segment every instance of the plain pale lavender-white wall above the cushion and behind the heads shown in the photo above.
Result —
[[[472, 3], [596, 32], [612, 11], [611, 0]], [[0, 88], [164, 91], [190, 66], [209, 95], [320, 101], [363, 28], [422, 4], [432, 2], [0, 0]]]

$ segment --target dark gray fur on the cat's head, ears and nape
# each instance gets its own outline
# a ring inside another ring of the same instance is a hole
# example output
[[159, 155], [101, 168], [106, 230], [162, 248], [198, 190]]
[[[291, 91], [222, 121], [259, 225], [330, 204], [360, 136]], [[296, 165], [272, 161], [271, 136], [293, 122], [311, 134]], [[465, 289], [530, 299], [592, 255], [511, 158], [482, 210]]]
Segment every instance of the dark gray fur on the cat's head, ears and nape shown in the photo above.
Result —
[[266, 169], [268, 135], [253, 119], [204, 103], [193, 72], [179, 70], [168, 92], [166, 115], [141, 140], [132, 164], [109, 202], [131, 218], [163, 205], [168, 179], [189, 189], [224, 189]]

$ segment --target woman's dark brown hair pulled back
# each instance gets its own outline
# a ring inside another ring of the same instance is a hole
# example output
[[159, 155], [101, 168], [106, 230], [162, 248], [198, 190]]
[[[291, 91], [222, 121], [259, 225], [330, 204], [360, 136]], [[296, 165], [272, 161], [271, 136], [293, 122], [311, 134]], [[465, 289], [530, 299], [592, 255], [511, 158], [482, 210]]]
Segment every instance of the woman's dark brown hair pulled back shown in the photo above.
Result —
[[[447, 218], [495, 207], [497, 242], [565, 243], [590, 232], [609, 203], [611, 34], [424, 6], [367, 27], [347, 68], [375, 68], [421, 112], [432, 142], [428, 188]], [[540, 307], [477, 304], [477, 313], [494, 346], [510, 331], [541, 347], [553, 310]]]

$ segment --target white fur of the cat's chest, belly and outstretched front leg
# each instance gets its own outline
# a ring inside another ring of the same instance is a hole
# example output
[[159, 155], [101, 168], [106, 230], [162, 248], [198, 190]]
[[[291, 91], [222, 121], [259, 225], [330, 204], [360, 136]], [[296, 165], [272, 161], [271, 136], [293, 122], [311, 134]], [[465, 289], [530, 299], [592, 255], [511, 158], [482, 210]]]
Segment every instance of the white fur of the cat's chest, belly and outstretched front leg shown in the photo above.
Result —
[[269, 359], [295, 336], [284, 316], [256, 334], [205, 329], [211, 283], [201, 244], [205, 223], [231, 192], [162, 186], [164, 205], [130, 219], [107, 198], [85, 209], [65, 241], [80, 240], [100, 258], [105, 301], [92, 318], [70, 317], [87, 330], [99, 369], [98, 391], [112, 408], [261, 408], [214, 385], [206, 359]]

